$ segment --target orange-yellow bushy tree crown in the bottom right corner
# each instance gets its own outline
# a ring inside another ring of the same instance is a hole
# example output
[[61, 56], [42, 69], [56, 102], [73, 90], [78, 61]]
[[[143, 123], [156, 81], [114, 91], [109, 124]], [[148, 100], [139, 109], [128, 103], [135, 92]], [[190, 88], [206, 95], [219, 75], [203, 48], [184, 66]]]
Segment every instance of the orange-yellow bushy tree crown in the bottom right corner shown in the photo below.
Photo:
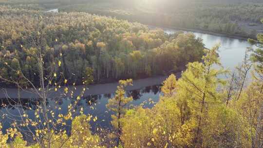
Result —
[[246, 128], [242, 129], [251, 148], [263, 148], [263, 82], [254, 80], [236, 104]]

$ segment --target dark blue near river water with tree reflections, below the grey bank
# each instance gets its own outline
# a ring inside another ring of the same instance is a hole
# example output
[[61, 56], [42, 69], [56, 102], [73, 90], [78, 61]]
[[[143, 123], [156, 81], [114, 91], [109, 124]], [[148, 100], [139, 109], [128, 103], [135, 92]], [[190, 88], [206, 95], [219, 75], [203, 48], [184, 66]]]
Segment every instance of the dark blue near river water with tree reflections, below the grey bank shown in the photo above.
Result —
[[[126, 96], [132, 96], [133, 101], [131, 105], [138, 106], [142, 105], [144, 108], [152, 108], [154, 104], [147, 104], [149, 98], [151, 98], [154, 102], [157, 102], [159, 99], [160, 92], [160, 85], [154, 86], [147, 86], [142, 89], [127, 91]], [[92, 131], [95, 131], [97, 128], [104, 128], [104, 129], [111, 129], [111, 115], [113, 114], [112, 111], [109, 111], [106, 108], [106, 104], [108, 103], [108, 99], [114, 97], [114, 93], [106, 93], [106, 94], [96, 94], [96, 95], [88, 95], [82, 97], [80, 101], [75, 106], [75, 109], [83, 108], [84, 114], [96, 116], [98, 120], [94, 122], [93, 120], [90, 121], [90, 125]], [[68, 111], [68, 106], [70, 104], [74, 104], [76, 100], [75, 98], [69, 97], [54, 97], [49, 98], [46, 102], [46, 105], [50, 110], [54, 110], [56, 115], [58, 112], [62, 114], [66, 114]], [[3, 114], [12, 114], [12, 119], [10, 118], [0, 118], [0, 122], [2, 123], [3, 129], [2, 131], [5, 132], [11, 125], [14, 120], [21, 119], [21, 111], [25, 111], [28, 114], [29, 118], [34, 120], [35, 119], [35, 110], [37, 106], [41, 104], [42, 101], [40, 99], [35, 98], [21, 98], [12, 99], [12, 98], [0, 98], [0, 116]], [[61, 111], [56, 111], [58, 108]], [[75, 114], [73, 116], [76, 116]], [[67, 125], [71, 125], [72, 121], [68, 121]], [[65, 128], [67, 132], [70, 131], [70, 126]]]

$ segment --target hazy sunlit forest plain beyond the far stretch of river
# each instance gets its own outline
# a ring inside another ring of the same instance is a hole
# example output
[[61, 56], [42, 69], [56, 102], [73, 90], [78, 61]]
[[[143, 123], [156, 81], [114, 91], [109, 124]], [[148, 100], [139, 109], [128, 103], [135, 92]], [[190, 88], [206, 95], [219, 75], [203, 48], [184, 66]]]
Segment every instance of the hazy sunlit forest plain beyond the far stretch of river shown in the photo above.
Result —
[[[122, 2], [120, 2], [122, 1]], [[256, 37], [263, 31], [262, 2], [217, 0], [115, 0], [62, 6], [63, 12], [89, 12], [145, 24], [197, 29], [229, 36]], [[127, 4], [128, 3], [128, 4]]]

